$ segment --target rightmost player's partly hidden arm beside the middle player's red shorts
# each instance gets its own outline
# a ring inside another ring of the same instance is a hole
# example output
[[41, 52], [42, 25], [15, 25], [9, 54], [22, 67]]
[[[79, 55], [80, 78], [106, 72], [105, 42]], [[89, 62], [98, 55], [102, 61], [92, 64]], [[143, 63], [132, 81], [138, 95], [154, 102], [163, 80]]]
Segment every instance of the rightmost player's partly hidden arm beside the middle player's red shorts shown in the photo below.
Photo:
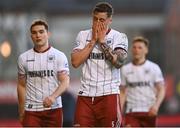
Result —
[[125, 106], [125, 103], [126, 103], [126, 87], [125, 86], [120, 86], [120, 105], [121, 105], [121, 110], [123, 111], [124, 110], [124, 106]]

